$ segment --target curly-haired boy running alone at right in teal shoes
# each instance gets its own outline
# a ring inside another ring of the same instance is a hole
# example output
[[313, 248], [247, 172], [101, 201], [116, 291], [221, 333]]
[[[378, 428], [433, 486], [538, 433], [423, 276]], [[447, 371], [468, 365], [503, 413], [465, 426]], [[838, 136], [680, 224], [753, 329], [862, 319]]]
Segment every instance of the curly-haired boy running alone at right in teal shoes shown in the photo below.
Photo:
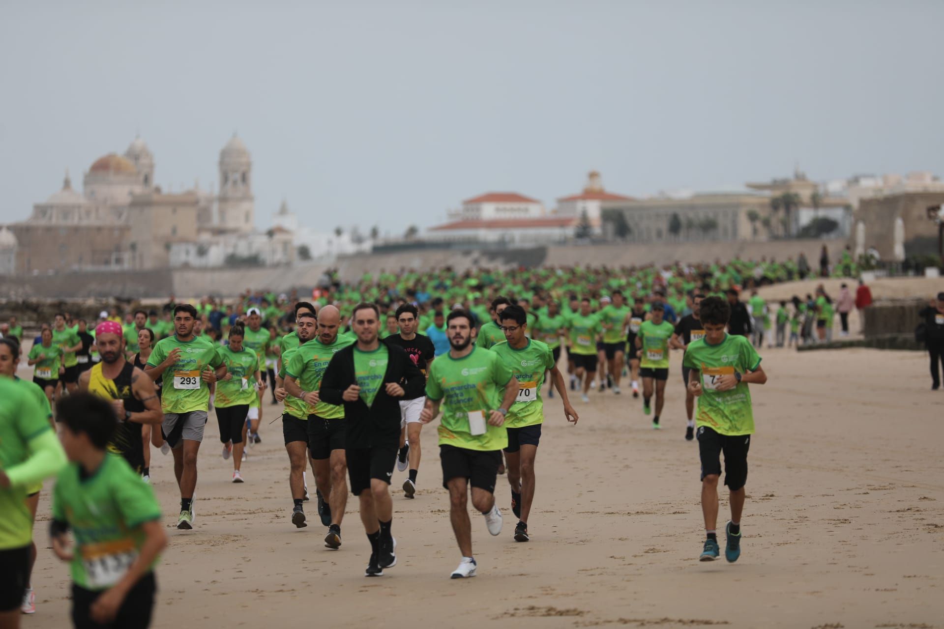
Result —
[[724, 557], [733, 562], [741, 555], [741, 512], [748, 479], [750, 436], [754, 432], [748, 385], [765, 384], [767, 373], [749, 339], [725, 333], [731, 318], [728, 303], [707, 297], [701, 302], [700, 317], [705, 336], [693, 340], [684, 357], [684, 365], [691, 369], [688, 389], [699, 398], [701, 513], [707, 536], [700, 560], [714, 561], [718, 556], [717, 481], [724, 453], [724, 484], [731, 494]]

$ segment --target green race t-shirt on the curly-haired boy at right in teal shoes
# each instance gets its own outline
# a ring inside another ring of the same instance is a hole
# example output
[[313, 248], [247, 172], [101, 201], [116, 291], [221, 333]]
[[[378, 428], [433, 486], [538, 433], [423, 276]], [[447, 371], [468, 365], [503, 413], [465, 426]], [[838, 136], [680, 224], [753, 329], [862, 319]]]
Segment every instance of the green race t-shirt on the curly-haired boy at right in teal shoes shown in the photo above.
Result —
[[741, 382], [731, 390], [719, 391], [718, 376], [734, 372], [753, 372], [761, 364], [761, 357], [747, 337], [725, 335], [717, 345], [705, 339], [694, 340], [688, 346], [683, 365], [701, 373], [702, 394], [696, 423], [709, 426], [721, 435], [750, 435], [754, 432], [750, 388]]

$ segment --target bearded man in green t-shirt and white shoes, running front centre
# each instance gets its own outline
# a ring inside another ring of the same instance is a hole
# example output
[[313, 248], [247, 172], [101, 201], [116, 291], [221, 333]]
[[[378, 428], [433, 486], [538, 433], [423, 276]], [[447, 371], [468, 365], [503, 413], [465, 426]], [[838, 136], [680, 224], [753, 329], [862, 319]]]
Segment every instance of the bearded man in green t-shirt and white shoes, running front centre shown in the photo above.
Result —
[[447, 329], [451, 349], [430, 367], [427, 402], [420, 421], [432, 422], [442, 406], [439, 457], [443, 464], [443, 487], [449, 490], [449, 520], [463, 555], [451, 578], [462, 579], [475, 576], [478, 567], [472, 555], [469, 485], [472, 486], [472, 505], [485, 517], [488, 532], [501, 533], [495, 481], [501, 450], [508, 447], [504, 422], [517, 398], [518, 381], [495, 352], [485, 352], [472, 345], [471, 312], [451, 311]]

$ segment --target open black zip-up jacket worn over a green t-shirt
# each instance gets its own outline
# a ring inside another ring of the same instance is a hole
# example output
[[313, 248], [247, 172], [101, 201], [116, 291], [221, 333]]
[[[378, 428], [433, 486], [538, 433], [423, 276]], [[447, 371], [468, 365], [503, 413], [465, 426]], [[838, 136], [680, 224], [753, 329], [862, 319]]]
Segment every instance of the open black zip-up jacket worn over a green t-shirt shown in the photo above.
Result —
[[[385, 342], [387, 348], [387, 371], [374, 398], [367, 406], [359, 397], [346, 402], [342, 397], [351, 385], [357, 384], [354, 374], [354, 345], [348, 345], [331, 357], [328, 369], [321, 378], [318, 395], [328, 404], [345, 406], [346, 448], [395, 447], [400, 443], [400, 400], [413, 400], [425, 395], [426, 376], [413, 364], [413, 360], [402, 348]], [[394, 382], [404, 390], [403, 397], [387, 394], [387, 383]]]

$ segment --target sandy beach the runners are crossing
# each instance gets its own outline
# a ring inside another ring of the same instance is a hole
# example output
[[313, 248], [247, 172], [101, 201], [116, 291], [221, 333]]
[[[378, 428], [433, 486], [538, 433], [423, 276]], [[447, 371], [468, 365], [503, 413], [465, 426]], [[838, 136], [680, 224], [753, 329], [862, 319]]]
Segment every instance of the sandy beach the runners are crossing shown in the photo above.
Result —
[[[944, 627], [944, 392], [927, 359], [878, 350], [764, 350], [754, 387], [743, 553], [700, 563], [697, 443], [683, 439], [681, 355], [672, 356], [665, 429], [653, 431], [625, 391], [579, 396], [576, 426], [546, 399], [531, 542], [515, 543], [505, 477], [505, 529], [472, 514], [479, 576], [448, 578], [460, 555], [441, 487], [436, 435], [423, 434], [415, 500], [394, 474], [396, 568], [363, 577], [368, 544], [349, 499], [344, 545], [289, 521], [279, 406], [265, 402], [263, 443], [244, 485], [230, 481], [215, 418], [199, 459], [193, 531], [174, 527], [170, 456], [151, 478], [170, 545], [160, 560], [155, 627]], [[24, 369], [23, 377], [31, 372]], [[312, 489], [311, 472], [308, 476]], [[69, 578], [46, 548], [49, 491], [37, 523], [38, 611], [26, 628], [68, 626]], [[726, 520], [722, 494], [719, 528]], [[723, 545], [723, 541], [722, 541]]]

